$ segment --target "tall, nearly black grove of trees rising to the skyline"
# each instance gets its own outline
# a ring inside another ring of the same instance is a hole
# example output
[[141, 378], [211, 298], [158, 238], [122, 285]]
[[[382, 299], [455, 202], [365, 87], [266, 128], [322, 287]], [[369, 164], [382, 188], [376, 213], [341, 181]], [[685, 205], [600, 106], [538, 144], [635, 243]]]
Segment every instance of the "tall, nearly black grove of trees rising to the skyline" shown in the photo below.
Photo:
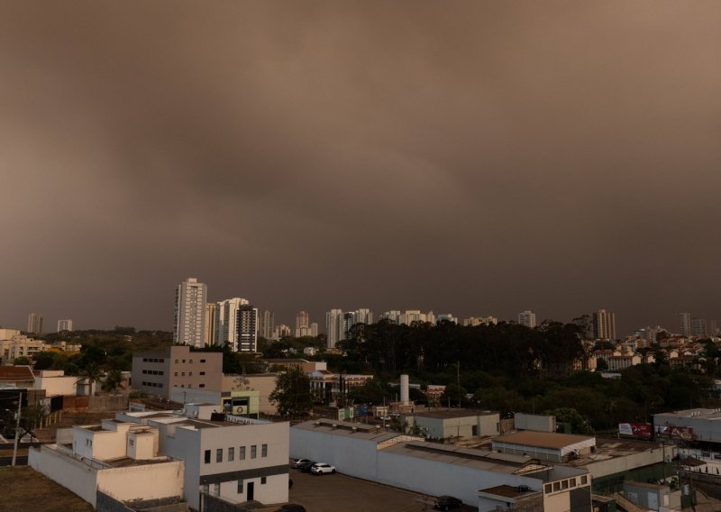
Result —
[[517, 379], [545, 379], [570, 375], [584, 361], [582, 327], [546, 322], [524, 325], [462, 326], [397, 325], [381, 320], [353, 325], [350, 337], [338, 343], [349, 361], [357, 361], [381, 376], [405, 371], [481, 370]]

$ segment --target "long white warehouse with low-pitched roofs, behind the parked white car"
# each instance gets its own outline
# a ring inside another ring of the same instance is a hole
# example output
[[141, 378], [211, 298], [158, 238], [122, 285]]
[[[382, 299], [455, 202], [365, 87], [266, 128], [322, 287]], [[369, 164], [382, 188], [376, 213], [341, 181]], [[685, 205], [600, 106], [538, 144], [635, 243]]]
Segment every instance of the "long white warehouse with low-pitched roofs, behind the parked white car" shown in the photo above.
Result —
[[[290, 453], [333, 464], [352, 477], [431, 496], [452, 495], [480, 512], [508, 507], [514, 488], [540, 510], [590, 510], [591, 477], [582, 468], [539, 462], [524, 455], [427, 443], [375, 426], [331, 420], [290, 429]], [[520, 489], [520, 490], [519, 490]]]

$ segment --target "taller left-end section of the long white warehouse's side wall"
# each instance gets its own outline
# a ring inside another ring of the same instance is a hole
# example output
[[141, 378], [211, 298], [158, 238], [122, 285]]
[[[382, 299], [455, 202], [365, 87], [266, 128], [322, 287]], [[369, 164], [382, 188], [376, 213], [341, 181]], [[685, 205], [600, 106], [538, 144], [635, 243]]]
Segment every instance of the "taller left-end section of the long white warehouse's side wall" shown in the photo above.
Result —
[[[302, 428], [290, 429], [290, 456], [327, 462], [347, 475], [366, 480], [378, 477], [378, 450], [375, 441], [324, 434]], [[406, 470], [407, 471], [407, 468]]]

